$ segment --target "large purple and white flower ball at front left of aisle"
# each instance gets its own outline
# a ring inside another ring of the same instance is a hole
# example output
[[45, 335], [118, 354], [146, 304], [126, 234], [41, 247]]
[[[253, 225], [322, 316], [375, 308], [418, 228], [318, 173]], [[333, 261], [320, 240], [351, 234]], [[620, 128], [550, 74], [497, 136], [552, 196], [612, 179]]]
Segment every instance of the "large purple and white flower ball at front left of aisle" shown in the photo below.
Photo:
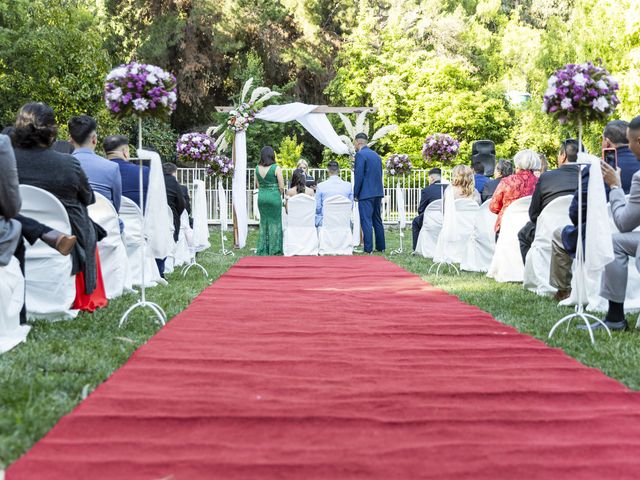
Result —
[[129, 63], [107, 75], [104, 100], [118, 118], [167, 118], [176, 109], [176, 77], [154, 65]]

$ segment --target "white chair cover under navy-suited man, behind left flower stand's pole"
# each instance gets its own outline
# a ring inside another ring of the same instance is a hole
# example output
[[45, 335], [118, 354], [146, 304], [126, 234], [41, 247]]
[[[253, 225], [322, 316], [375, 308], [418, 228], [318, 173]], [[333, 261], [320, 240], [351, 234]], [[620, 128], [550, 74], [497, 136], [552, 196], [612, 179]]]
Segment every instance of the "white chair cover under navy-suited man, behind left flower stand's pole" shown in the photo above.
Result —
[[[166, 217], [166, 209], [164, 211]], [[131, 266], [131, 283], [133, 285], [142, 284], [143, 266], [145, 268], [145, 286], [155, 287], [158, 283], [165, 283], [160, 277], [158, 265], [156, 265], [155, 259], [149, 249], [146, 249], [143, 264], [140, 250], [142, 249], [142, 242], [145, 241], [145, 237], [142, 234], [142, 215], [138, 205], [136, 205], [133, 200], [122, 197], [120, 203], [120, 218], [124, 222], [124, 242], [127, 247], [129, 265]]]

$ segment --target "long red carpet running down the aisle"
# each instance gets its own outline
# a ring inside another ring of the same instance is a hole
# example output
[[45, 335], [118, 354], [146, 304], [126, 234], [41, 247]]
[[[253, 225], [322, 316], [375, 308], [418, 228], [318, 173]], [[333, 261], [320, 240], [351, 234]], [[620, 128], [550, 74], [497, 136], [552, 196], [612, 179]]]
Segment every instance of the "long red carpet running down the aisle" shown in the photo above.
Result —
[[246, 258], [7, 479], [637, 479], [639, 449], [638, 394], [382, 258]]

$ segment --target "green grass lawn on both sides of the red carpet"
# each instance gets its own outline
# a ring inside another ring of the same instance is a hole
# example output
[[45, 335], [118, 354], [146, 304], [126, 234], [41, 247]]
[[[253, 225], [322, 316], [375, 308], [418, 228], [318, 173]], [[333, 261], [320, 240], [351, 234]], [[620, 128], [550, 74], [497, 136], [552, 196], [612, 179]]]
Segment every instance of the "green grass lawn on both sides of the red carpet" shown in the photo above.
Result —
[[[256, 238], [256, 231], [251, 230], [248, 247], [255, 246]], [[409, 232], [405, 238], [410, 241]], [[398, 231], [388, 231], [387, 239], [390, 251], [398, 245]], [[238, 258], [251, 254], [245, 248], [236, 251], [235, 257], [214, 255], [220, 248], [219, 231], [211, 240], [212, 248], [199, 258], [209, 271], [209, 279], [191, 269], [187, 278], [179, 272], [168, 275], [169, 287], [147, 290], [148, 299], [162, 306], [169, 318], [184, 310]], [[574, 329], [568, 333], [562, 329], [547, 340], [553, 323], [571, 312], [558, 308], [550, 298], [538, 297], [521, 285], [495, 283], [481, 274], [428, 275], [431, 262], [407, 253], [385, 256], [461, 300], [481, 307], [501, 322], [563, 348], [584, 364], [601, 369], [630, 388], [640, 389], [640, 373], [635, 365], [640, 358], [640, 336], [636, 331], [616, 333], [613, 340], [598, 334], [595, 347], [585, 332]], [[159, 329], [145, 310], [137, 310], [125, 327], [118, 328], [122, 313], [136, 298], [121, 297], [106, 309], [92, 315], [81, 314], [69, 322], [36, 322], [26, 343], [0, 356], [0, 467], [28, 450]]]

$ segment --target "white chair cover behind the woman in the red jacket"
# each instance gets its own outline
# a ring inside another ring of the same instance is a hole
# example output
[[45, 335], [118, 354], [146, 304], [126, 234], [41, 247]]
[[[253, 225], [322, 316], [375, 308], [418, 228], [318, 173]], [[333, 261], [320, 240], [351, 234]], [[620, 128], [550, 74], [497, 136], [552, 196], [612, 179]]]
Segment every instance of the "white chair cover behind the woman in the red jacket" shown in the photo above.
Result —
[[531, 196], [519, 198], [507, 207], [502, 216], [500, 236], [487, 273], [496, 282], [522, 282], [524, 279], [518, 232], [529, 221], [529, 205]]

